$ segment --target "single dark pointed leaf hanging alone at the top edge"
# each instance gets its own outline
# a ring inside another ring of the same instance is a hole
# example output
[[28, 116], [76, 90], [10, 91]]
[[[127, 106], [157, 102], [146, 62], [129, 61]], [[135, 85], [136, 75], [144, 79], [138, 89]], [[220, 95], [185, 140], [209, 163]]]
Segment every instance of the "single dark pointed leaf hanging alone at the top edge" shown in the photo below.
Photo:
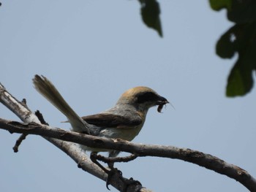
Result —
[[155, 29], [159, 36], [162, 37], [162, 27], [159, 3], [156, 0], [139, 0], [141, 4], [140, 13], [143, 22], [149, 28]]

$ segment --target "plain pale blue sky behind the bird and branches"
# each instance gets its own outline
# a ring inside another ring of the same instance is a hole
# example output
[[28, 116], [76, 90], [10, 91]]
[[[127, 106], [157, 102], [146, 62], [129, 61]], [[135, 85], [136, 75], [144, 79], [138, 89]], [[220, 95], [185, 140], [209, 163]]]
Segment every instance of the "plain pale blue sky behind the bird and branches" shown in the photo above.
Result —
[[[233, 24], [208, 1], [159, 0], [164, 38], [147, 28], [138, 1], [7, 1], [0, 7], [0, 82], [26, 98], [51, 126], [69, 129], [56, 108], [33, 88], [48, 77], [78, 112], [107, 110], [128, 88], [146, 85], [174, 105], [154, 107], [134, 142], [200, 150], [241, 166], [256, 177], [255, 89], [228, 99], [233, 63], [215, 54], [219, 36]], [[0, 117], [18, 120], [0, 105]], [[29, 136], [19, 153], [18, 134], [0, 130], [0, 191], [108, 191], [45, 139]], [[166, 158], [116, 164], [154, 191], [247, 191], [224, 175]], [[111, 191], [116, 191], [110, 186]]]

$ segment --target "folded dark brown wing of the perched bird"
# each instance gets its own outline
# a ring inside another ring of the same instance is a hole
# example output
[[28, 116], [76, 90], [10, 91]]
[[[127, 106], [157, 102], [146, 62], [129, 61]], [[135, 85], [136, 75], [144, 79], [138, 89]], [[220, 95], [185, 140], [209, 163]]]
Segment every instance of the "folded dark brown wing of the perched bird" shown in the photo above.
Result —
[[88, 115], [82, 117], [89, 124], [94, 126], [105, 127], [105, 128], [129, 128], [132, 126], [138, 126], [142, 123], [141, 118], [131, 120], [124, 118], [121, 115], [113, 115], [108, 113], [99, 113], [96, 115]]

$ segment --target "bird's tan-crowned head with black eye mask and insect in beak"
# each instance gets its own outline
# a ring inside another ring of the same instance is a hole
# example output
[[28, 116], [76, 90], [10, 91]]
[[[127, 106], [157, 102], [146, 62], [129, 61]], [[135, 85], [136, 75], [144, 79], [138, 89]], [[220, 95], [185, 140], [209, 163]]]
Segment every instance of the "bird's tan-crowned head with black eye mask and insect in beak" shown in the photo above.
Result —
[[[147, 111], [150, 107], [156, 105], [162, 109], [162, 106], [167, 103], [169, 103], [169, 101], [159, 96], [156, 91], [143, 86], [130, 88], [125, 91], [118, 100], [118, 104], [129, 104], [140, 111]], [[158, 111], [161, 112], [161, 110]]]

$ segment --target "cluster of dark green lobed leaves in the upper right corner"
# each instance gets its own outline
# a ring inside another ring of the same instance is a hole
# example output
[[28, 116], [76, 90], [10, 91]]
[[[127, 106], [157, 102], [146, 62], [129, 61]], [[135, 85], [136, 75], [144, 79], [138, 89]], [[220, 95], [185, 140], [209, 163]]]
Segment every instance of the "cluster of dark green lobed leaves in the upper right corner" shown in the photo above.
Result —
[[244, 96], [252, 90], [256, 69], [256, 1], [210, 0], [211, 8], [227, 9], [227, 19], [235, 23], [219, 38], [216, 46], [221, 58], [238, 59], [227, 78], [227, 96]]

